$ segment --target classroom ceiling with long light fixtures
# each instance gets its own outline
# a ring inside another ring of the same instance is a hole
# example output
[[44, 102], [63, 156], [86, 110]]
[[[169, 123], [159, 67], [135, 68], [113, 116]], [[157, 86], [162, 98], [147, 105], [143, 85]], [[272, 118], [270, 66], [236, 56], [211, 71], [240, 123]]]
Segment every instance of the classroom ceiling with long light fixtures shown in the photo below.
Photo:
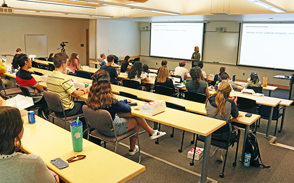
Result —
[[[268, 0], [287, 10], [275, 13], [246, 0], [6, 0], [15, 15], [69, 17], [99, 19], [107, 18], [126, 21], [294, 21], [294, 0]], [[97, 4], [97, 2], [99, 4]], [[179, 13], [170, 16], [122, 7], [101, 5], [125, 5], [135, 8]], [[17, 11], [17, 10], [29, 11]], [[35, 11], [35, 12], [31, 12]], [[37, 12], [36, 12], [37, 11]], [[40, 13], [43, 12], [43, 13]], [[52, 14], [52, 13], [59, 14]], [[63, 14], [62, 14], [63, 13]], [[216, 15], [212, 13], [217, 13]], [[226, 15], [222, 13], [228, 13]], [[0, 14], [1, 15], [1, 14]], [[88, 16], [83, 16], [88, 15]], [[89, 17], [89, 15], [92, 17]]]

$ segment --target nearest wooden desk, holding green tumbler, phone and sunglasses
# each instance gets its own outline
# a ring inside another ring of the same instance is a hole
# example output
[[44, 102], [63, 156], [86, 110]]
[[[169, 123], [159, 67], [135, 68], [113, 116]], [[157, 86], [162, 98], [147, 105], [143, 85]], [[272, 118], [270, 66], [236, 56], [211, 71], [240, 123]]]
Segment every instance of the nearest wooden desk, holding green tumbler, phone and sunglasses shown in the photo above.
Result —
[[[23, 114], [23, 111], [22, 111]], [[66, 183], [124, 183], [143, 172], [146, 167], [83, 139], [83, 151], [73, 152], [71, 132], [38, 116], [29, 124], [27, 112], [24, 119], [25, 133], [22, 150], [40, 156], [48, 168]], [[76, 155], [86, 155], [83, 160], [69, 163], [58, 169], [50, 160], [67, 160]]]

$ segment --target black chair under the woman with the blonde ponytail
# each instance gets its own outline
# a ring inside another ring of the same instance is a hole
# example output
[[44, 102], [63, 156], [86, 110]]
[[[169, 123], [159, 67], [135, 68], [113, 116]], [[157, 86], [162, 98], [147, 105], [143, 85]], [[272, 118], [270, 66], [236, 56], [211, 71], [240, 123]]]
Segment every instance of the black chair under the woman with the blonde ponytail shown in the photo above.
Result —
[[[231, 136], [236, 131], [238, 131], [238, 135], [231, 138]], [[217, 131], [212, 133], [211, 145], [214, 145], [216, 147], [219, 147], [219, 148], [222, 148], [222, 149], [226, 150], [225, 158], [224, 158], [224, 162], [223, 162], [223, 167], [222, 167], [222, 172], [220, 174], [221, 178], [224, 177], [223, 173], [224, 173], [224, 167], [225, 167], [229, 147], [234, 146], [235, 143], [237, 143], [237, 147], [236, 147], [235, 161], [234, 161], [233, 165], [236, 166], [236, 164], [237, 164], [236, 161], [237, 161], [237, 155], [238, 155], [240, 134], [241, 134], [241, 130], [239, 128], [236, 128], [236, 129], [232, 130], [232, 126], [231, 126], [231, 124], [229, 122], [226, 123], [224, 126], [222, 126], [220, 129], [218, 129]], [[205, 137], [202, 136], [202, 135], [199, 135], [199, 136], [197, 135], [196, 142], [195, 142], [195, 150], [196, 150], [196, 147], [197, 147], [197, 141], [204, 142]], [[195, 150], [194, 150], [192, 162], [190, 162], [191, 166], [194, 165]]]

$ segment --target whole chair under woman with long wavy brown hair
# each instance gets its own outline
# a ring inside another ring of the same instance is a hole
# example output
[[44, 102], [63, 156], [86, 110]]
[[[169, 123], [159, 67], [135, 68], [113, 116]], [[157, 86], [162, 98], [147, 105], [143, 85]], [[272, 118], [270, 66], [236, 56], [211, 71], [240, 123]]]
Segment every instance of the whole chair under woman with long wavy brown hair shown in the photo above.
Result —
[[[104, 141], [104, 147], [106, 148], [106, 142], [109, 142], [111, 144], [115, 145], [114, 152], [116, 152], [117, 149], [117, 144], [134, 136], [137, 135], [137, 142], [139, 146], [139, 136], [136, 132], [135, 129], [131, 129], [127, 132], [125, 132], [122, 135], [117, 136], [115, 132], [115, 127], [112, 121], [112, 118], [110, 116], [110, 113], [104, 109], [98, 109], [98, 110], [93, 110], [89, 108], [87, 105], [83, 106], [83, 113], [85, 114], [86, 117], [86, 124], [88, 127], [88, 138], [89, 136], [95, 137], [97, 139], [100, 139]], [[90, 127], [95, 128], [92, 132], [90, 132]], [[104, 131], [104, 132], [114, 132], [113, 137], [108, 137], [99, 131]], [[140, 155], [140, 146], [139, 146], [139, 162], [141, 162], [141, 155]]]

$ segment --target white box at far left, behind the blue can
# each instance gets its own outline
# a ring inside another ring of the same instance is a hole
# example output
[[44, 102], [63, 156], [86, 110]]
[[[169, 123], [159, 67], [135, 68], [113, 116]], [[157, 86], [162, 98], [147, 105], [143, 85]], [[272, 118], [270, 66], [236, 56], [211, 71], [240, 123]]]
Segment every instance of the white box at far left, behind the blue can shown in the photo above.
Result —
[[11, 99], [6, 100], [6, 106], [16, 107], [19, 110], [33, 106], [34, 101], [31, 97], [25, 97], [23, 95], [17, 95]]

